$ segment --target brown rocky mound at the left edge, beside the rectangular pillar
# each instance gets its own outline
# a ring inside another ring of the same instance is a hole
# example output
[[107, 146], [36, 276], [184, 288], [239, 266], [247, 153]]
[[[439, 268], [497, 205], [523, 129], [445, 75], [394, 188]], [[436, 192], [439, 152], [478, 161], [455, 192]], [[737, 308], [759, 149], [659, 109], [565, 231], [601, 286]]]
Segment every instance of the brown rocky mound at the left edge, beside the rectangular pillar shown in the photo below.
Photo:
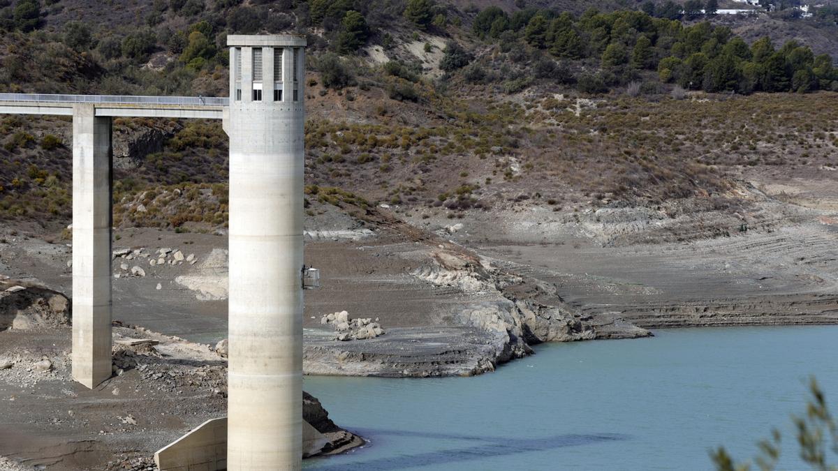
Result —
[[43, 287], [0, 282], [0, 331], [56, 328], [70, 323], [70, 300]]

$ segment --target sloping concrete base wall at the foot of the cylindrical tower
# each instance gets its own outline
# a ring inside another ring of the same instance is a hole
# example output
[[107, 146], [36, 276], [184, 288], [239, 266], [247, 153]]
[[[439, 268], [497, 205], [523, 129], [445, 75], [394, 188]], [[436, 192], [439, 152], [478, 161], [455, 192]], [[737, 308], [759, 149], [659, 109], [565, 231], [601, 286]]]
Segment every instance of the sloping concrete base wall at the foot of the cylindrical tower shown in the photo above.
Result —
[[[303, 421], [303, 458], [320, 453], [328, 438]], [[209, 419], [154, 453], [160, 471], [222, 471], [227, 468], [227, 417]]]

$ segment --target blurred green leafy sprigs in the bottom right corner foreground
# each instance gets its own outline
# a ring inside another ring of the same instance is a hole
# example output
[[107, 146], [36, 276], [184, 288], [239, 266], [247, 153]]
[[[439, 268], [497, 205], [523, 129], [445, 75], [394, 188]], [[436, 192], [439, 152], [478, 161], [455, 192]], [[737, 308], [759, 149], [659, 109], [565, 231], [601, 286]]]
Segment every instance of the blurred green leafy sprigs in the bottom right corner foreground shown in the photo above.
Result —
[[[806, 403], [804, 416], [793, 416], [797, 429], [797, 443], [800, 447], [800, 459], [819, 471], [835, 471], [838, 465], [827, 463], [830, 454], [838, 456], [838, 422], [826, 406], [823, 391], [820, 391], [815, 378], [810, 380], [812, 397]], [[761, 471], [772, 471], [780, 458], [780, 432], [776, 428], [771, 438], [758, 443], [759, 455], [754, 458]], [[831, 452], [831, 453], [830, 453]], [[737, 463], [724, 447], [711, 453], [717, 471], [748, 471], [751, 463]]]

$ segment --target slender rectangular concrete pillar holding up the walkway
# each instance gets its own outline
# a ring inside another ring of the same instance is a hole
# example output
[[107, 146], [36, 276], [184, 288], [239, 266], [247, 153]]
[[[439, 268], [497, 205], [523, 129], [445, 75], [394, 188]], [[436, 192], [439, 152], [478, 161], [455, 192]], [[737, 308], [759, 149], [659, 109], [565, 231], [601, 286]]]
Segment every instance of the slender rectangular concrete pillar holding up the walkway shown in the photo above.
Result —
[[111, 118], [73, 110], [73, 379], [111, 377]]

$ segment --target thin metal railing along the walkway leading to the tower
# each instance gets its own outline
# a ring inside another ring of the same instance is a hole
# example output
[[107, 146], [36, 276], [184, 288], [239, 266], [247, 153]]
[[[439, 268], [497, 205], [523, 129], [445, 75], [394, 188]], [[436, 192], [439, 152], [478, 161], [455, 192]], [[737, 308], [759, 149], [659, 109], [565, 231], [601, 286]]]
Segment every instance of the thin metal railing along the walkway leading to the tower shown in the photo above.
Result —
[[227, 106], [219, 96], [130, 96], [130, 95], [53, 95], [47, 93], [0, 93], [0, 101], [37, 103], [93, 103], [148, 106]]

